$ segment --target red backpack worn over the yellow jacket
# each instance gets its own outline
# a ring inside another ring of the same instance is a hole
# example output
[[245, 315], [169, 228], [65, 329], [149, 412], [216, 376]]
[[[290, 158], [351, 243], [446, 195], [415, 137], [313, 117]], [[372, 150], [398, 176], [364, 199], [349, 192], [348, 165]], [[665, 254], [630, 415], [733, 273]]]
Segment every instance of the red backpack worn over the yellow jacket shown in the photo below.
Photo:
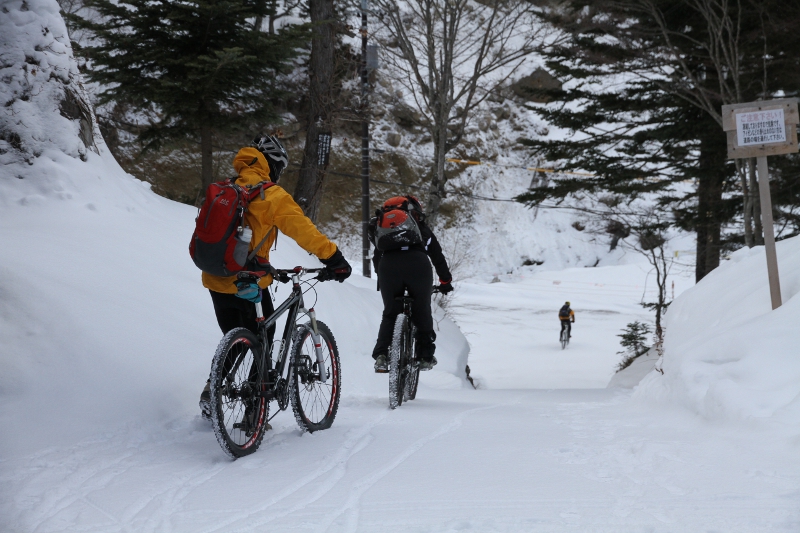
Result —
[[189, 255], [197, 268], [214, 276], [233, 276], [243, 270], [269, 237], [267, 233], [248, 254], [252, 233], [247, 236], [244, 213], [256, 196], [263, 199], [264, 190], [275, 184], [265, 181], [243, 187], [235, 181], [234, 177], [208, 186], [189, 243]]

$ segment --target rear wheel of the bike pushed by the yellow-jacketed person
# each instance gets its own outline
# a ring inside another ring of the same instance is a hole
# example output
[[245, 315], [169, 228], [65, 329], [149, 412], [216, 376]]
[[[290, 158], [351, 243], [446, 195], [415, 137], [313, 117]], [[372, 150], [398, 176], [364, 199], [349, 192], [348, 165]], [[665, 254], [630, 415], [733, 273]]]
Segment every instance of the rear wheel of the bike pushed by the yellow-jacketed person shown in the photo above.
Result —
[[261, 343], [246, 328], [229, 331], [211, 363], [211, 421], [222, 450], [233, 459], [250, 455], [264, 438], [269, 402]]

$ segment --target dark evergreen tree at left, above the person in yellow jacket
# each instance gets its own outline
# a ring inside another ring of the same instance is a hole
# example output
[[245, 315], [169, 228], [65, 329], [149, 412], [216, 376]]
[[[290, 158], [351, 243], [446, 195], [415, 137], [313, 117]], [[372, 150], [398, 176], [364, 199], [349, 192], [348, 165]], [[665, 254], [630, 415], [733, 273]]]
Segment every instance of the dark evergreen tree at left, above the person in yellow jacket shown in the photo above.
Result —
[[79, 47], [100, 103], [126, 106], [145, 124], [145, 148], [199, 141], [203, 188], [213, 181], [212, 139], [252, 134], [274, 119], [272, 80], [289, 66], [301, 30], [258, 27], [274, 8], [264, 0], [88, 0], [92, 20], [70, 15], [94, 40]]

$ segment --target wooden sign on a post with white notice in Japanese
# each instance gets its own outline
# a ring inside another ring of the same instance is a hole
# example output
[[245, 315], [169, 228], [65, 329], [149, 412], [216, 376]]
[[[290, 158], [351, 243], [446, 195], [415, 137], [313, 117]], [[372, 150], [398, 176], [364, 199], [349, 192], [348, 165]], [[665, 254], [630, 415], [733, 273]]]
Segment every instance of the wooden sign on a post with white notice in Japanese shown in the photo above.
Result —
[[761, 226], [767, 252], [767, 275], [772, 308], [781, 306], [781, 282], [772, 198], [769, 193], [767, 156], [797, 152], [797, 98], [764, 100], [722, 106], [722, 129], [728, 135], [728, 158], [758, 158], [758, 192], [761, 199]]

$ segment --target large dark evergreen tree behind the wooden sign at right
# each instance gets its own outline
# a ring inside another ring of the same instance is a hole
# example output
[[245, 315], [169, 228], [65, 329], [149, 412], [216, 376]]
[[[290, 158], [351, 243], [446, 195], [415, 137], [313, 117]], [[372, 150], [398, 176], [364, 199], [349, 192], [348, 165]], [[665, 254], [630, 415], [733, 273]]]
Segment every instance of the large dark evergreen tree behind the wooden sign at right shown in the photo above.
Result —
[[[736, 83], [714, 62], [708, 45], [717, 36], [698, 12], [723, 5], [726, 20], [736, 25], [730, 32], [740, 67]], [[800, 8], [777, 0], [730, 5], [715, 0], [577, 0], [552, 11], [549, 22], [570, 37], [547, 52], [547, 64], [572, 83], [568, 90], [548, 91], [561, 105], [535, 110], [578, 135], [524, 142], [565, 169], [597, 177], [557, 180], [519, 200], [535, 205], [587, 191], [626, 199], [658, 193], [662, 205], [673, 209], [676, 224], [697, 234], [700, 280], [719, 264], [728, 244], [724, 229], [742, 206], [736, 168], [726, 156], [720, 108], [796, 91], [798, 57], [785, 47], [800, 45]], [[796, 167], [787, 170], [791, 174]], [[675, 187], [683, 181], [694, 184], [688, 193], [685, 186]], [[776, 200], [794, 202], [795, 195], [790, 191]], [[740, 242], [741, 232], [733, 240]]]

